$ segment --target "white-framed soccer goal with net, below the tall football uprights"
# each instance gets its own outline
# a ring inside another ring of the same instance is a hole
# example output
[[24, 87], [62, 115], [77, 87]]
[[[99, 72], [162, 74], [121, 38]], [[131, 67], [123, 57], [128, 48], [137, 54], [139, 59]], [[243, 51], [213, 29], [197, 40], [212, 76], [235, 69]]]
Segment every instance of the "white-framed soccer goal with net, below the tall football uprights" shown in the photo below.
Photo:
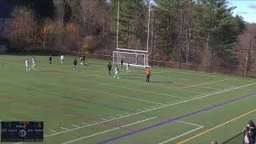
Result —
[[130, 66], [141, 66], [141, 67], [149, 66], [148, 54], [113, 51], [113, 63], [121, 64], [122, 60], [125, 65], [129, 63]]

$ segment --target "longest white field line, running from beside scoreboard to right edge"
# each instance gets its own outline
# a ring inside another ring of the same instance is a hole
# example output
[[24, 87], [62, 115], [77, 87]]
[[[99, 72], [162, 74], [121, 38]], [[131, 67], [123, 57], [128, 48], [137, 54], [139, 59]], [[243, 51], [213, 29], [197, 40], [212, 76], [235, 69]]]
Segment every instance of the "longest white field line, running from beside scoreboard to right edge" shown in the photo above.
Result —
[[[105, 121], [105, 122], [110, 122], [110, 121], [114, 121], [114, 120], [121, 119], [121, 118], [127, 118], [127, 117], [130, 117], [130, 116], [133, 116], [133, 115], [142, 114], [142, 113], [146, 113], [146, 112], [149, 112], [149, 111], [162, 109], [162, 108], [165, 108], [165, 107], [168, 107], [168, 106], [174, 106], [174, 105], [178, 105], [178, 104], [185, 103], [185, 102], [191, 102], [191, 101], [194, 101], [194, 100], [198, 100], [198, 99], [202, 99], [202, 98], [207, 98], [207, 97], [210, 97], [211, 95], [222, 94], [222, 93], [225, 93], [225, 92], [230, 91], [230, 90], [237, 90], [237, 89], [240, 89], [240, 88], [243, 88], [243, 87], [246, 87], [246, 86], [252, 86], [252, 85], [255, 85], [255, 84], [256, 83], [251, 83], [251, 84], [248, 84], [248, 85], [245, 85], [245, 86], [234, 87], [232, 89], [220, 90], [220, 91], [217, 91], [217, 92], [211, 93], [211, 94], [199, 95], [197, 98], [191, 98], [191, 99], [186, 100], [186, 101], [176, 102], [176, 103], [172, 103], [170, 105], [156, 107], [156, 108], [151, 109], [151, 110], [144, 110], [144, 111], [140, 111], [140, 112], [137, 112], [137, 113], [128, 114], [128, 115], [125, 115], [125, 116], [122, 116], [122, 117], [110, 119], [110, 120]], [[95, 125], [102, 124], [102, 123], [104, 123], [104, 122], [97, 122], [97, 123], [94, 123], [94, 124], [91, 124], [91, 125], [81, 126], [81, 127], [74, 128], [74, 129], [71, 129], [71, 130], [65, 130], [65, 131], [62, 131], [62, 132], [58, 132], [56, 134], [49, 134], [49, 135], [46, 135], [46, 138], [50, 137], [50, 136], [57, 135], [57, 134], [63, 134], [63, 133], [69, 132], [69, 131], [82, 129], [82, 128], [89, 127], [89, 126], [95, 126]]]

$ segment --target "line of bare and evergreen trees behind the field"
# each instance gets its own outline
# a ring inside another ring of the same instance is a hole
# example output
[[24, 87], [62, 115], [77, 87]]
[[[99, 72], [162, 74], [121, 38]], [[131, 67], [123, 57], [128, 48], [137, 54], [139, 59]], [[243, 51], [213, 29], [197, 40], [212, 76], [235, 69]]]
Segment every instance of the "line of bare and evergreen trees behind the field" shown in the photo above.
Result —
[[255, 24], [234, 15], [235, 7], [229, 7], [226, 0], [6, 2], [18, 4], [10, 34], [15, 50], [111, 54], [119, 20], [118, 46], [145, 50], [149, 38], [152, 60], [198, 64], [205, 69], [228, 66], [245, 74], [256, 64]]

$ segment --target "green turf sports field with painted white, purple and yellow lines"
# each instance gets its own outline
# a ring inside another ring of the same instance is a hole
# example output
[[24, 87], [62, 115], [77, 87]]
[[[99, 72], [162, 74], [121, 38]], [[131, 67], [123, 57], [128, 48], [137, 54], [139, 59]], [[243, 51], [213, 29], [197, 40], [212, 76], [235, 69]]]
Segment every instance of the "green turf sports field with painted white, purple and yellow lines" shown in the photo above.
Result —
[[43, 143], [207, 144], [256, 121], [254, 79], [154, 67], [146, 83], [145, 69], [114, 79], [106, 61], [73, 70], [67, 56], [26, 72], [26, 58], [0, 55], [0, 121], [43, 121]]

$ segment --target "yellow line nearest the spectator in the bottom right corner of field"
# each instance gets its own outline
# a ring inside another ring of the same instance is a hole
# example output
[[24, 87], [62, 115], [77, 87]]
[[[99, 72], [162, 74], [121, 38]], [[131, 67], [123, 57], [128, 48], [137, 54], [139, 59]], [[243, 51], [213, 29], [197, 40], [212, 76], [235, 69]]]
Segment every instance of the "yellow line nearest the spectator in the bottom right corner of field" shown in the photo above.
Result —
[[192, 139], [194, 139], [194, 138], [198, 138], [198, 137], [201, 136], [202, 134], [206, 134], [206, 133], [208, 133], [208, 132], [210, 132], [210, 131], [212, 131], [212, 130], [218, 129], [218, 127], [224, 126], [224, 125], [226, 125], [226, 124], [228, 124], [228, 123], [230, 123], [230, 122], [233, 122], [233, 121], [235, 121], [235, 120], [237, 120], [237, 119], [239, 119], [239, 118], [242, 118], [242, 117], [244, 117], [244, 116], [246, 116], [246, 115], [248, 115], [248, 114], [250, 114], [250, 113], [253, 113], [254, 111], [256, 111], [256, 109], [251, 110], [250, 112], [248, 112], [248, 113], [246, 113], [246, 114], [242, 114], [242, 115], [240, 115], [240, 116], [237, 117], [237, 118], [233, 118], [233, 119], [231, 119], [230, 121], [227, 121], [227, 122], [225, 122], [225, 123], [222, 123], [221, 125], [218, 125], [218, 126], [215, 126], [215, 127], [211, 128], [211, 129], [209, 129], [209, 130], [206, 130], [206, 131], [204, 131], [204, 132], [202, 132], [202, 133], [200, 133], [200, 134], [197, 134], [197, 135], [195, 135], [195, 136], [193, 136], [193, 137], [191, 137], [191, 138], [188, 138], [188, 139], [186, 139], [186, 140], [184, 140], [184, 141], [182, 141], [182, 142], [178, 142], [178, 144], [182, 144], [182, 143], [188, 142], [188, 141], [190, 141], [190, 140], [192, 140]]

